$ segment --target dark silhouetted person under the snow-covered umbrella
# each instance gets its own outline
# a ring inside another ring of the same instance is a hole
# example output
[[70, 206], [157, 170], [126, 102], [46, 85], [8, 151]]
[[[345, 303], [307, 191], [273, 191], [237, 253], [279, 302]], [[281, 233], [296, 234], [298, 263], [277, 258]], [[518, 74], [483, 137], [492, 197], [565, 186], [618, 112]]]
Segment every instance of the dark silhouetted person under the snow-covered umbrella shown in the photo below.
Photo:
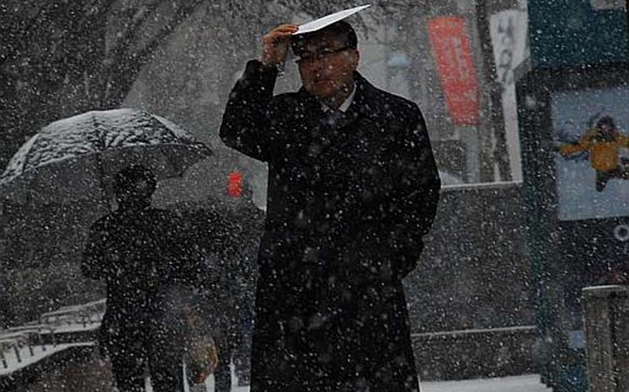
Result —
[[185, 317], [178, 297], [202, 273], [183, 222], [151, 208], [155, 187], [155, 177], [143, 166], [118, 173], [118, 209], [91, 226], [82, 262], [84, 275], [106, 282], [99, 343], [124, 392], [144, 391], [147, 365], [153, 391], [182, 391]]

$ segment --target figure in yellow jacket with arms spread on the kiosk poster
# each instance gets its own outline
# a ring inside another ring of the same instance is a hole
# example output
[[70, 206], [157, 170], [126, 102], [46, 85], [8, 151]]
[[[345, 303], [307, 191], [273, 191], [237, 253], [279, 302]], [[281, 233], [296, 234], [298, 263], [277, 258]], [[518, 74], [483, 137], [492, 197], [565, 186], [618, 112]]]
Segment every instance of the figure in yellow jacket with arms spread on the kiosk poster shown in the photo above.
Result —
[[621, 148], [628, 147], [629, 136], [617, 128], [612, 117], [604, 116], [579, 141], [563, 144], [558, 150], [564, 157], [587, 151], [590, 165], [597, 171], [597, 191], [602, 192], [612, 178], [629, 179], [629, 161], [619, 156]]

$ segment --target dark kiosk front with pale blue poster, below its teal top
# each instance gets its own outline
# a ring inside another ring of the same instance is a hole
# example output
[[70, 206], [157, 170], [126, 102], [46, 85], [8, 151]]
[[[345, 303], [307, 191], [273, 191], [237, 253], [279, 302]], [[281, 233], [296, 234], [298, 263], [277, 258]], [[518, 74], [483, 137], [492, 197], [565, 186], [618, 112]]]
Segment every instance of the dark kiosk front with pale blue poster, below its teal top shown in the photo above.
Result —
[[556, 392], [588, 391], [582, 289], [629, 275], [628, 81], [614, 61], [516, 84], [539, 369]]

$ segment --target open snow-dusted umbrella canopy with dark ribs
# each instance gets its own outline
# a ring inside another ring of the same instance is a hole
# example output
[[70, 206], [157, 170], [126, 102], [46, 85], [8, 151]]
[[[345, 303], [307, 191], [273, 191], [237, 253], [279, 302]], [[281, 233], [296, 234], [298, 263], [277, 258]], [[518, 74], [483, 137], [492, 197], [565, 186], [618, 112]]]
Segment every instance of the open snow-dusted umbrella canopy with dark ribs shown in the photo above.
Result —
[[158, 179], [182, 175], [211, 151], [176, 124], [132, 109], [55, 121], [21, 146], [0, 177], [0, 195], [19, 203], [89, 199], [109, 204], [111, 179], [129, 164]]

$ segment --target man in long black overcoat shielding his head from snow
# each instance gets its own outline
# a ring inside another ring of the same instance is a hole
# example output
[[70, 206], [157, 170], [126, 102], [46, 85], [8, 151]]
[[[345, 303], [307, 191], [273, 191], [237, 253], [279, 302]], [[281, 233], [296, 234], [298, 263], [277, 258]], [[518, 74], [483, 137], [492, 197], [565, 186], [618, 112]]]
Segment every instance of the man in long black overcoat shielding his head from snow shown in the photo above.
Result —
[[[424, 119], [357, 72], [348, 23], [296, 31], [263, 37], [220, 127], [269, 169], [251, 391], [418, 391], [402, 278], [440, 189]], [[289, 45], [303, 86], [274, 96]]]

